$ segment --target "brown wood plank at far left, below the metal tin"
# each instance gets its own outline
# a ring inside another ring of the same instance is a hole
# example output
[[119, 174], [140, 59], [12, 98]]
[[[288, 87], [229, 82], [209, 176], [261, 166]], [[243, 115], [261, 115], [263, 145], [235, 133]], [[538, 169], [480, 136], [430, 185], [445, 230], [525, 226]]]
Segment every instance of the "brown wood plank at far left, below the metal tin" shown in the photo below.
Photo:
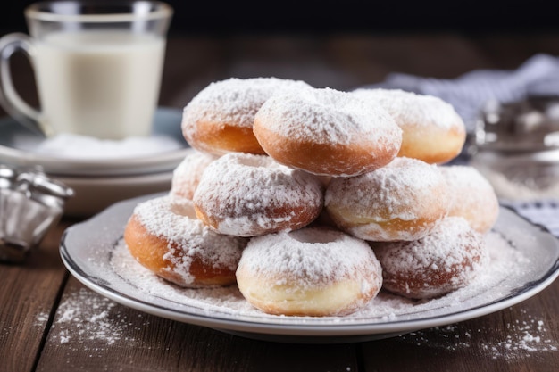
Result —
[[0, 263], [0, 370], [32, 371], [67, 273], [58, 253], [70, 222], [50, 231], [21, 265]]

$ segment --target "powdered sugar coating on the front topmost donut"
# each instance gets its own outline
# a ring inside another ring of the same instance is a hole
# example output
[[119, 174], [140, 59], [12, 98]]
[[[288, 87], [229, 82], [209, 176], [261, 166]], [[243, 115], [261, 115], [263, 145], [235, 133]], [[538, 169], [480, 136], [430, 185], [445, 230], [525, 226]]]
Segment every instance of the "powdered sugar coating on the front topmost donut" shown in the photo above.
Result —
[[348, 145], [367, 138], [387, 147], [401, 141], [401, 129], [380, 105], [331, 88], [274, 95], [256, 113], [255, 120], [282, 138], [313, 144]]

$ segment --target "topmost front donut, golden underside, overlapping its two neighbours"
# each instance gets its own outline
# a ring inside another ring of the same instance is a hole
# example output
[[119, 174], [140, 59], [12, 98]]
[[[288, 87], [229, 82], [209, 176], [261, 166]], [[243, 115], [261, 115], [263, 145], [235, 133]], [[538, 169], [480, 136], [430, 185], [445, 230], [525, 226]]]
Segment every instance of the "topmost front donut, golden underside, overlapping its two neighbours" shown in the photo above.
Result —
[[254, 135], [276, 161], [323, 176], [355, 176], [396, 157], [402, 131], [379, 105], [335, 89], [274, 95]]

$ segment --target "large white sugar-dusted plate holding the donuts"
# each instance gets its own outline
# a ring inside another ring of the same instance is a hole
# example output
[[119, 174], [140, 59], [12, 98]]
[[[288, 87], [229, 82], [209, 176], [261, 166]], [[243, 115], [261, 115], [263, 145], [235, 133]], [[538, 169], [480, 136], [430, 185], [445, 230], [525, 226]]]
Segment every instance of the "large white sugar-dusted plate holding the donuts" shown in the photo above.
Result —
[[[121, 243], [135, 205], [161, 194], [116, 203], [69, 227], [61, 256], [84, 285], [130, 308], [234, 335], [293, 343], [347, 343], [401, 335], [503, 310], [550, 285], [559, 275], [559, 242], [542, 227], [502, 208], [488, 244], [492, 267], [463, 290], [428, 302], [381, 292], [365, 310], [337, 318], [280, 317], [252, 308], [236, 286], [190, 290], [154, 277]], [[127, 257], [128, 256], [128, 257]], [[502, 275], [496, 275], [501, 272]]]

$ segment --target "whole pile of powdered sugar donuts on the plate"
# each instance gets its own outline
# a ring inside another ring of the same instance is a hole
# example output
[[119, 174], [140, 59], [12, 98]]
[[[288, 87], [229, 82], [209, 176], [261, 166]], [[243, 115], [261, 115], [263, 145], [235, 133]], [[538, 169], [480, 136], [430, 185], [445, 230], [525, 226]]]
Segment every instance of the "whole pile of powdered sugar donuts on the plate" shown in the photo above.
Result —
[[381, 289], [450, 293], [486, 266], [496, 194], [446, 164], [466, 132], [437, 97], [226, 79], [187, 104], [181, 128], [192, 150], [169, 194], [139, 203], [124, 232], [176, 285], [238, 285], [269, 314], [343, 316]]

